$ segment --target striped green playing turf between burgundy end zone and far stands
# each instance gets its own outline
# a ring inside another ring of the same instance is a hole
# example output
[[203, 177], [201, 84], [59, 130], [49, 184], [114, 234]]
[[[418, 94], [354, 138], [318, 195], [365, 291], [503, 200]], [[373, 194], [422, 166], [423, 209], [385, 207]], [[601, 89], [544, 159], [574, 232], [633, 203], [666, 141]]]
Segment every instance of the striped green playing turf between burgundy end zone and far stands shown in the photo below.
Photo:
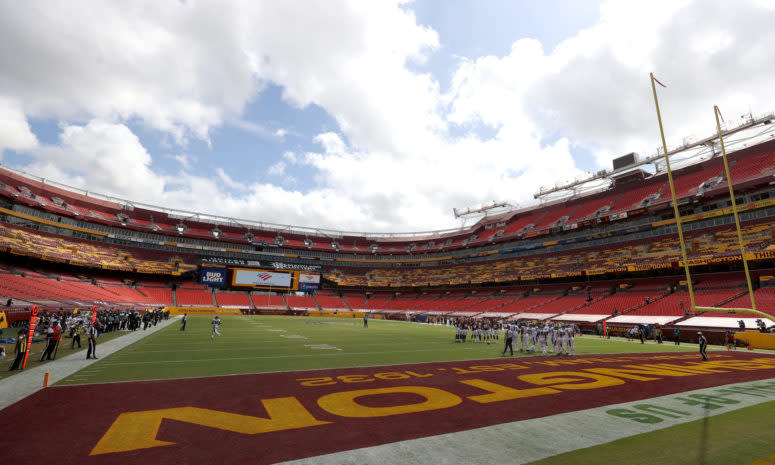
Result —
[[[57, 384], [478, 360], [498, 357], [503, 350], [502, 332], [501, 340], [492, 345], [455, 344], [451, 327], [370, 320], [364, 328], [361, 319], [352, 318], [225, 317], [222, 336], [211, 339], [210, 320], [189, 317], [185, 332], [171, 325], [101, 358], [77, 381], [68, 377]], [[577, 354], [696, 350], [594, 336], [576, 339]]]

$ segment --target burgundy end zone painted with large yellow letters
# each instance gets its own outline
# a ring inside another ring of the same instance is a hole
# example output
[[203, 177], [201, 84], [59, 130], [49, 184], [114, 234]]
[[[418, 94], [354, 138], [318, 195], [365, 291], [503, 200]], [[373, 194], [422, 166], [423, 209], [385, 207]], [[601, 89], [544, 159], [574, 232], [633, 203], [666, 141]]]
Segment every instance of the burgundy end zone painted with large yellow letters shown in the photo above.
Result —
[[[56, 459], [63, 465], [272, 463], [775, 378], [773, 356], [712, 357], [504, 358], [54, 387], [0, 411], [0, 421], [13, 425], [3, 434], [4, 457], [39, 461], [43, 440], [46, 450], [63, 451]], [[594, 371], [601, 369], [609, 371]], [[282, 405], [296, 410], [284, 415]], [[382, 413], [391, 415], [375, 416]], [[272, 431], [261, 430], [270, 423]], [[111, 452], [117, 442], [134, 447], [140, 436], [150, 441], [145, 448]]]

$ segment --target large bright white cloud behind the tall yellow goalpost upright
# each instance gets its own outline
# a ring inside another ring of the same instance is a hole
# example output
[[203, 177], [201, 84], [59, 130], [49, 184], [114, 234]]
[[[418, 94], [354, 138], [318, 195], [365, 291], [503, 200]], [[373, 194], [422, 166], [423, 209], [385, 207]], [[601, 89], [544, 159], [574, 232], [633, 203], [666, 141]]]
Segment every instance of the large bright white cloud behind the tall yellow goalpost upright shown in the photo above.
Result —
[[766, 24], [775, 11], [752, 2], [611, 2], [593, 28], [544, 59], [552, 72], [528, 90], [531, 118], [546, 131], [611, 155], [652, 155], [660, 145], [649, 72], [658, 90], [668, 144], [714, 132], [712, 107], [732, 114], [771, 111], [775, 72]]

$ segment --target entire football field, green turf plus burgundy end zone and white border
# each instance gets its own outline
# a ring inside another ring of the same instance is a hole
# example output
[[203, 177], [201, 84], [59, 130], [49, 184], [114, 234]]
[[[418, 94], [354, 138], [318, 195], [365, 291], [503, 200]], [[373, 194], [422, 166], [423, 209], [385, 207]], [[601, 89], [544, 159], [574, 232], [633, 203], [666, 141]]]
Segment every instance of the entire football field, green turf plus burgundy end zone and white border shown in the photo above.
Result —
[[64, 465], [775, 462], [771, 353], [701, 362], [696, 345], [583, 336], [575, 357], [511, 357], [502, 333], [461, 344], [438, 325], [227, 316], [219, 336], [211, 319], [0, 410], [29, 419], [5, 439], [44, 428]]

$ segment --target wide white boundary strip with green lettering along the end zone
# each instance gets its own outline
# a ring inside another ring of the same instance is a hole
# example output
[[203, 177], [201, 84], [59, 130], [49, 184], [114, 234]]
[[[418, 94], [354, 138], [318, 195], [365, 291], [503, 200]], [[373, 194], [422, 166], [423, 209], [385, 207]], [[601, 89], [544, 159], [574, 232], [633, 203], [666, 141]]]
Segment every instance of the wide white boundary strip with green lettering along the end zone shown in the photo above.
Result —
[[[690, 396], [714, 396], [720, 401], [687, 405], [679, 400], [698, 399]], [[775, 378], [399, 441], [282, 462], [282, 465], [523, 464], [769, 401], [775, 401]], [[654, 422], [640, 423], [632, 419], [634, 414], [649, 415]]]

